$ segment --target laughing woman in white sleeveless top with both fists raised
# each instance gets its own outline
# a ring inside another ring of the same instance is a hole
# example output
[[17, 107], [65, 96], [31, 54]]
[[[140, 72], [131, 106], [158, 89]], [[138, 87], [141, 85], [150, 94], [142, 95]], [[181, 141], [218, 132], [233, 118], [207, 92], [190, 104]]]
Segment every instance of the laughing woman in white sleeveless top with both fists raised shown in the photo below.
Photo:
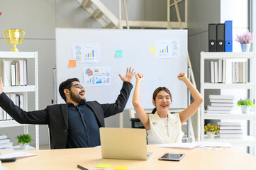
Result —
[[154, 91], [152, 103], [155, 106], [152, 114], [147, 114], [140, 103], [140, 84], [144, 79], [143, 74], [135, 74], [136, 85], [133, 94], [133, 107], [143, 123], [148, 135], [148, 144], [163, 144], [182, 142], [182, 124], [186, 122], [203, 102], [203, 98], [197, 89], [191, 84], [185, 73], [179, 73], [177, 78], [189, 88], [194, 102], [184, 111], [176, 114], [169, 113], [172, 105], [172, 94], [165, 87], [159, 87]]

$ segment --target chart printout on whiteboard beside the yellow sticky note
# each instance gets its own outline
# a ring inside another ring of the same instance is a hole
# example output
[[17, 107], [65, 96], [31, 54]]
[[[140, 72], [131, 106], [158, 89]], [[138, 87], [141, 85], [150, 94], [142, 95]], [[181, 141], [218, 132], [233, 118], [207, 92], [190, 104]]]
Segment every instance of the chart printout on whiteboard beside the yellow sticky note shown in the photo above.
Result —
[[179, 57], [179, 40], [156, 40], [157, 58], [177, 58]]

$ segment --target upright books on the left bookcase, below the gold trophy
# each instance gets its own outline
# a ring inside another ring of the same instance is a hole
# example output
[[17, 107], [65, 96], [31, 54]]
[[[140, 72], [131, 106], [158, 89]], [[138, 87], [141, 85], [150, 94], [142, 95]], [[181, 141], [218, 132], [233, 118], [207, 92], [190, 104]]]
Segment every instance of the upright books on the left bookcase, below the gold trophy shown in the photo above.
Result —
[[28, 85], [27, 60], [2, 60], [4, 86], [26, 86]]

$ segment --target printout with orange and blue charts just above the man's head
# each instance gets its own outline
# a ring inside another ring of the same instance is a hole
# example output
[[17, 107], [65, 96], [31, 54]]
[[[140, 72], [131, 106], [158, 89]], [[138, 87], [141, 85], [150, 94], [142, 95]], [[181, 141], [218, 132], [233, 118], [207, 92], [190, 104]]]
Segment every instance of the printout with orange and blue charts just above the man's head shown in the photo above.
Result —
[[111, 84], [110, 67], [84, 67], [84, 86]]

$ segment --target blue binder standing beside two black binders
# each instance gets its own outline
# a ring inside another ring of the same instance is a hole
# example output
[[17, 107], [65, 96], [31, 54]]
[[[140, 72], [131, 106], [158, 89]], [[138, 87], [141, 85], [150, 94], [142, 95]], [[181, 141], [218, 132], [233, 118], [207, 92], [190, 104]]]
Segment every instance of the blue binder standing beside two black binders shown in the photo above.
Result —
[[225, 21], [225, 52], [233, 52], [233, 21]]

